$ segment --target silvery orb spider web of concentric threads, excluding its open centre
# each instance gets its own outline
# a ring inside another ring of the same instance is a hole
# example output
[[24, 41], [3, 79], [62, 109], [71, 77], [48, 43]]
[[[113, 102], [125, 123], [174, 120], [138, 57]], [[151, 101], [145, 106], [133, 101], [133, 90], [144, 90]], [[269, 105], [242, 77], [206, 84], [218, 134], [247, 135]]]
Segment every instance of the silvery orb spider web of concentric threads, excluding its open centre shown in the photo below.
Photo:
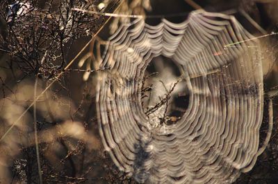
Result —
[[[264, 149], [261, 53], [252, 38], [234, 17], [203, 10], [181, 24], [122, 25], [96, 64], [99, 131], [115, 165], [140, 183], [231, 183], [252, 169]], [[159, 55], [179, 64], [189, 91], [171, 125], [141, 102], [146, 68]]]

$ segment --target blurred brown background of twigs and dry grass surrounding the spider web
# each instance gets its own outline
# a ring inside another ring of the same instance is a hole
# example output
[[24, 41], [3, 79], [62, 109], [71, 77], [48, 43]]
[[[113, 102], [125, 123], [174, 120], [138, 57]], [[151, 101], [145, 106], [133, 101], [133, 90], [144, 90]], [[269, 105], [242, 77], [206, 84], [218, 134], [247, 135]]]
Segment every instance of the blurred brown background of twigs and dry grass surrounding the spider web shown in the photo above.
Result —
[[[273, 34], [278, 32], [277, 0], [1, 0], [0, 183], [40, 183], [40, 177], [44, 183], [136, 183], [119, 172], [101, 145], [94, 71], [104, 40], [132, 19], [110, 19], [72, 8], [161, 15], [146, 18], [151, 25], [162, 17], [184, 21], [201, 8], [234, 15], [255, 37], [265, 35], [258, 38], [264, 89], [265, 93], [277, 90], [278, 37]], [[100, 29], [95, 41], [90, 41]], [[163, 63], [156, 62], [158, 72], [160, 67], [170, 67]], [[236, 183], [278, 183], [278, 99], [273, 100], [274, 127], [268, 147], [254, 169]], [[265, 118], [262, 138], [267, 125]]]

